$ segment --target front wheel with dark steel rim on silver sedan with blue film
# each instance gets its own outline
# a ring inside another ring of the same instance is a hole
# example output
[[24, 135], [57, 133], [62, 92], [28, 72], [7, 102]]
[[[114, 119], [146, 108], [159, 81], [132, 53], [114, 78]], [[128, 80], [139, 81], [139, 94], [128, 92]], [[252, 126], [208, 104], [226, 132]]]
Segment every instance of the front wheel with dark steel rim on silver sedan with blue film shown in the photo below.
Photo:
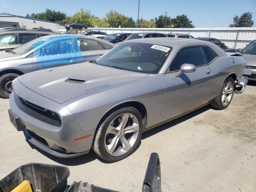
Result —
[[15, 73], [4, 74], [0, 77], [0, 97], [8, 99], [12, 92], [12, 80], [20, 75]]

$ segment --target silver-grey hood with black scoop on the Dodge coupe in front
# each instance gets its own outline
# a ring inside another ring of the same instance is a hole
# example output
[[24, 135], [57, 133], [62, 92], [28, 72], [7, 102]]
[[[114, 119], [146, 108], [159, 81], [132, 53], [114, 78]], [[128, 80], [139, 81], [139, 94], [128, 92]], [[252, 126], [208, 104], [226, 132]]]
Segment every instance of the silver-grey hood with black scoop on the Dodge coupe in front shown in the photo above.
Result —
[[62, 104], [80, 95], [131, 83], [146, 76], [148, 74], [84, 62], [31, 72], [18, 80], [34, 92]]

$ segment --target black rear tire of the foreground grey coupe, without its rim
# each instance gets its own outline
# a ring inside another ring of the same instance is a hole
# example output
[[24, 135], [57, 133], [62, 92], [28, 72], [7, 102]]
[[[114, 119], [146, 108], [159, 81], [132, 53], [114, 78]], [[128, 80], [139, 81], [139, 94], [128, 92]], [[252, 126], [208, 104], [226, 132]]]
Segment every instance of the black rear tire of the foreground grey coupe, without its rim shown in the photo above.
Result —
[[[231, 82], [231, 83], [232, 83], [233, 92], [232, 92], [232, 96], [231, 96], [231, 99], [230, 99], [230, 101], [228, 102], [228, 104], [224, 105], [224, 104], [222, 103], [222, 92], [224, 91], [224, 86], [225, 86], [228, 82]], [[233, 95], [234, 95], [234, 89], [235, 89], [234, 79], [233, 79], [232, 77], [227, 78], [227, 79], [224, 81], [224, 83], [223, 83], [221, 89], [219, 90], [218, 95], [216, 96], [215, 100], [211, 103], [211, 106], [214, 107], [214, 108], [220, 109], [220, 110], [226, 109], [226, 108], [229, 106], [229, 104], [231, 103], [231, 101], [232, 101], [232, 98], [233, 98]]]

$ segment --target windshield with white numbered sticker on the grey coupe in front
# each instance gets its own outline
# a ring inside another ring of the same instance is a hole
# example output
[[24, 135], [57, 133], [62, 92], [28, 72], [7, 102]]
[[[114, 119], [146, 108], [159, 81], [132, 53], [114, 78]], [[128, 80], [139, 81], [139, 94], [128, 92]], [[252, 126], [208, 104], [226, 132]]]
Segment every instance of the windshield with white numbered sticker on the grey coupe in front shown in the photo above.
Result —
[[97, 64], [128, 71], [156, 74], [172, 48], [146, 43], [122, 43], [96, 60]]

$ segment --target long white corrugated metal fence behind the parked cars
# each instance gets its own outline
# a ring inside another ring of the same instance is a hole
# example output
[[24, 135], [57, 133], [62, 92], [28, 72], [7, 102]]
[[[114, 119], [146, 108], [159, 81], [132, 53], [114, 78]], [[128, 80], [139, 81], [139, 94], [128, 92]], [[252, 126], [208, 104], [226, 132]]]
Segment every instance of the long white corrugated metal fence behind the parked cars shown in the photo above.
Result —
[[224, 28], [88, 28], [107, 34], [122, 32], [186, 33], [194, 37], [212, 37], [224, 42], [230, 48], [242, 48], [256, 39], [256, 27]]

